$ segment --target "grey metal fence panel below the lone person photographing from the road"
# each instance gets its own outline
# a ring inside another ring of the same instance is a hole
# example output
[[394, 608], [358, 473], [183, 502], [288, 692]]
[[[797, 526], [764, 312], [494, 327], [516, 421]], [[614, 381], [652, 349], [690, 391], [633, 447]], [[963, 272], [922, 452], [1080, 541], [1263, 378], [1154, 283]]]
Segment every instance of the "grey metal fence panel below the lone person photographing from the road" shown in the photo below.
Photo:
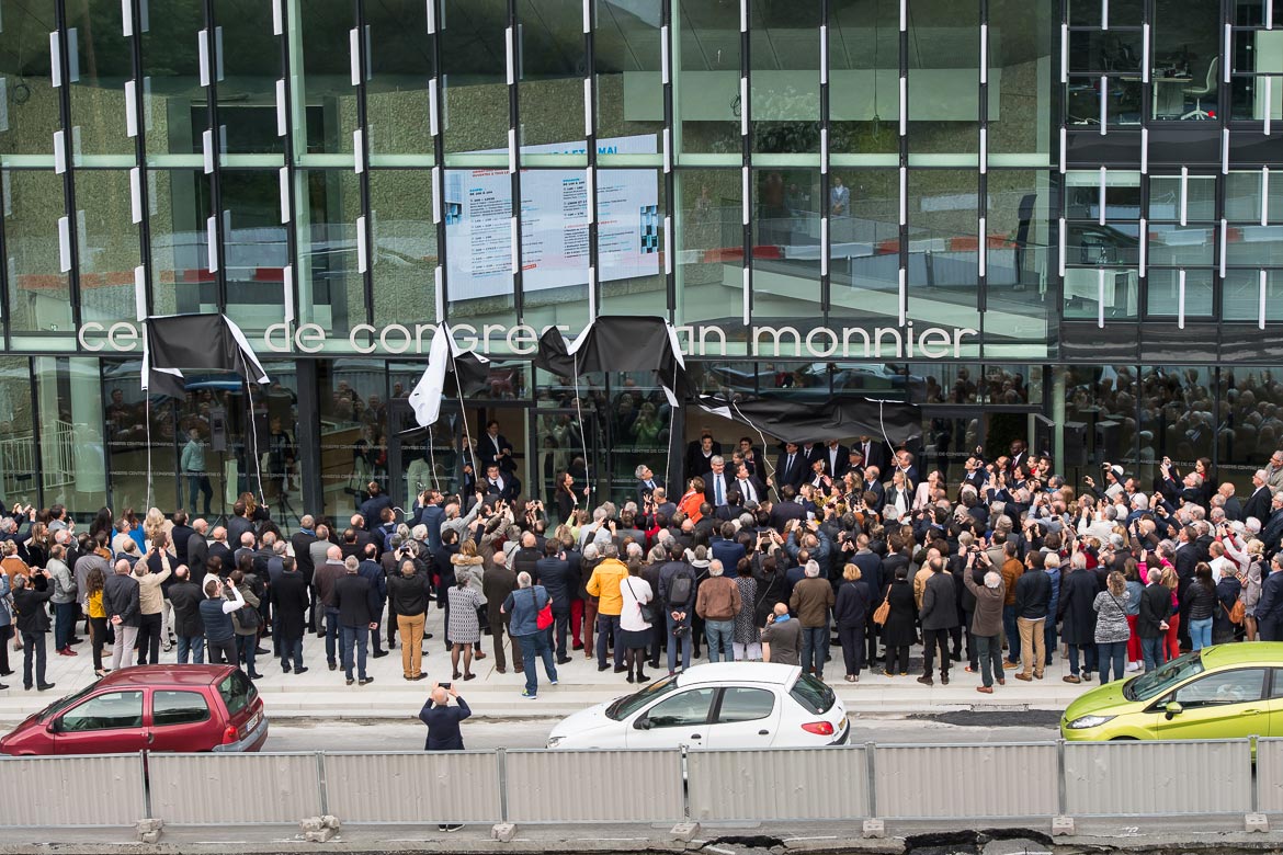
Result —
[[494, 751], [326, 752], [330, 813], [344, 823], [495, 823]]

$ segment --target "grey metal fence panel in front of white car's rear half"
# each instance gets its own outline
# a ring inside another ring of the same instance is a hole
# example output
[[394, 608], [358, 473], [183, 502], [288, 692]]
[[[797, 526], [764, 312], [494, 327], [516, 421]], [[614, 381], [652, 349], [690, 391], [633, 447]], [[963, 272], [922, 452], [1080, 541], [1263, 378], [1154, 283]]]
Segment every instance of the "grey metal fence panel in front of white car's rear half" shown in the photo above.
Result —
[[686, 786], [694, 820], [869, 815], [862, 747], [690, 751]]

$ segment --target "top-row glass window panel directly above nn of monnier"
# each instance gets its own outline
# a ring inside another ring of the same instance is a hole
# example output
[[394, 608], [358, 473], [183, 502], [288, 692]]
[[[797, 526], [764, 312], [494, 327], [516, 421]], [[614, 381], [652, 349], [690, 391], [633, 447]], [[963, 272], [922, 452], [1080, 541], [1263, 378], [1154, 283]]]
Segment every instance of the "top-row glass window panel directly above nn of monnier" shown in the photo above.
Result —
[[829, 4], [829, 150], [899, 150], [899, 10], [890, 3]]

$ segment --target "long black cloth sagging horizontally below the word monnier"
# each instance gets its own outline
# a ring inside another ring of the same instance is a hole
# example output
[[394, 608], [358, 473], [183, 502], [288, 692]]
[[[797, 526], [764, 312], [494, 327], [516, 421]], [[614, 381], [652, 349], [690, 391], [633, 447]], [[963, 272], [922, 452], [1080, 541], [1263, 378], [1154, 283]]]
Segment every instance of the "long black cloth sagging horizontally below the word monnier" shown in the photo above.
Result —
[[922, 414], [912, 404], [869, 397], [834, 396], [824, 400], [701, 395], [698, 404], [722, 418], [756, 428], [783, 442], [828, 442], [857, 436], [885, 437], [901, 445], [921, 436]]

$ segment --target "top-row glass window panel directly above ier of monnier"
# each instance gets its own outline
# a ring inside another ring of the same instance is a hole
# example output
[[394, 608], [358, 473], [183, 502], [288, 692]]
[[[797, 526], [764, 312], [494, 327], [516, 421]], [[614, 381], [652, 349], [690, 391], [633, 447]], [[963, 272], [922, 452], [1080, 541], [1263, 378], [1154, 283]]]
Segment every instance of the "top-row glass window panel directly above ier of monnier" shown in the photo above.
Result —
[[[980, 4], [919, 0], [908, 17], [910, 147], [980, 147]], [[974, 231], [974, 229], [973, 229]]]

